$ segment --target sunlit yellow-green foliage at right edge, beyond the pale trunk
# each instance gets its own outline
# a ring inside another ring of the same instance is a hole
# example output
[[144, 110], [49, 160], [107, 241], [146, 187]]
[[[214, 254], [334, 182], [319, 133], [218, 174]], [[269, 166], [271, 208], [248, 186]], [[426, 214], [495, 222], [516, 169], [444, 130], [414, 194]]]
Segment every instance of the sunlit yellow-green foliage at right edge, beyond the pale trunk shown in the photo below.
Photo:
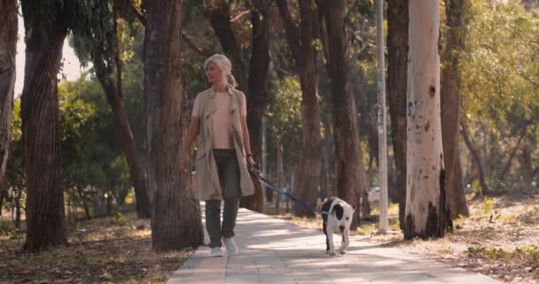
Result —
[[511, 185], [515, 173], [502, 175], [509, 153], [523, 130], [525, 140], [539, 134], [539, 14], [519, 2], [473, 0], [466, 17], [461, 118], [484, 157], [488, 184]]

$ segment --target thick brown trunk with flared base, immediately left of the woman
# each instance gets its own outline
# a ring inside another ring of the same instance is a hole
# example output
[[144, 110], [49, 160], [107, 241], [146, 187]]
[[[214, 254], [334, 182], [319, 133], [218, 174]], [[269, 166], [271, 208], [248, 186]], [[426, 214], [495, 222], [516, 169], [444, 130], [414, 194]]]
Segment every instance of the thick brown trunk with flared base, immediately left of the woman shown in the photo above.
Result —
[[182, 1], [145, 1], [146, 131], [152, 171], [152, 247], [156, 251], [197, 248], [203, 242], [199, 201], [191, 173], [181, 170], [182, 137], [189, 111], [181, 73]]

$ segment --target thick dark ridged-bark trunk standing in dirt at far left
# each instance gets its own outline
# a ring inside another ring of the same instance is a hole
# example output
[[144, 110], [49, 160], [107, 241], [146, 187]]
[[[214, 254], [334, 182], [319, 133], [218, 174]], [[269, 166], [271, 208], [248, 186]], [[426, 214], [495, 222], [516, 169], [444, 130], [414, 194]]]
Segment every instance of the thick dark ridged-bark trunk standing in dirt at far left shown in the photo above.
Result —
[[33, 251], [66, 243], [61, 187], [57, 75], [67, 28], [56, 25], [38, 41], [39, 23], [27, 19], [26, 66], [21, 99], [22, 141], [27, 177], [27, 240]]

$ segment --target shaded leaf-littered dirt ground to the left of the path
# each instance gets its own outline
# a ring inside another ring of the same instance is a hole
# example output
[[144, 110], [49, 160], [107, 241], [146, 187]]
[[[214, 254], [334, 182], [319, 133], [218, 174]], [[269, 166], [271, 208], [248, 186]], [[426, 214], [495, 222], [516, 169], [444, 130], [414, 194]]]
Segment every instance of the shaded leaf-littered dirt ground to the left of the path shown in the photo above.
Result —
[[192, 253], [155, 253], [150, 220], [135, 213], [80, 222], [68, 246], [41, 253], [23, 252], [24, 238], [0, 223], [0, 283], [161, 283]]

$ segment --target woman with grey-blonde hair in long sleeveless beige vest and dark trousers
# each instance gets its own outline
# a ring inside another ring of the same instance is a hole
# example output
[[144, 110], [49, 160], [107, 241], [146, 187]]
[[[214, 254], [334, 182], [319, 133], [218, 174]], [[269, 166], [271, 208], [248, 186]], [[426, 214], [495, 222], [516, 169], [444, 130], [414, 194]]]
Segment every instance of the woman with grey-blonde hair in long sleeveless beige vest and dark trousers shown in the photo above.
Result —
[[[196, 170], [199, 200], [206, 201], [206, 228], [212, 256], [238, 255], [234, 226], [239, 199], [254, 194], [247, 162], [254, 165], [246, 123], [246, 96], [235, 89], [230, 60], [215, 54], [204, 63], [212, 87], [197, 95], [182, 157], [188, 170], [191, 144], [198, 137]], [[223, 225], [221, 224], [221, 201]]]

